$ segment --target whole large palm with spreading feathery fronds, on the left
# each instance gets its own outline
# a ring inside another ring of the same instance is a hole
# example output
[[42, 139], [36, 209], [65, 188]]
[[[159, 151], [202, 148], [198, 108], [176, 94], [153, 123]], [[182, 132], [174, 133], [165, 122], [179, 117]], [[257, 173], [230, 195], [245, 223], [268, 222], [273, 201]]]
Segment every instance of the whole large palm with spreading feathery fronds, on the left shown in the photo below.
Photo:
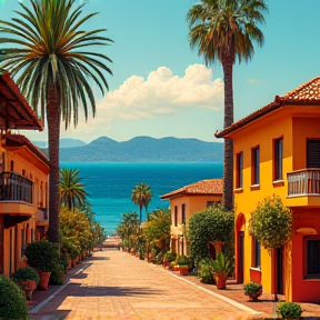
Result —
[[[60, 121], [66, 129], [78, 122], [80, 109], [84, 118], [96, 101], [88, 79], [96, 83], [102, 94], [108, 82], [102, 73], [112, 74], [106, 66], [111, 60], [97, 51], [96, 46], [107, 46], [109, 38], [101, 37], [104, 29], [83, 31], [83, 23], [97, 13], [80, 18], [82, 6], [76, 0], [31, 0], [32, 8], [24, 4], [12, 21], [0, 21], [0, 43], [13, 43], [16, 48], [2, 48], [6, 56], [1, 67], [8, 69], [22, 93], [41, 118], [47, 117], [50, 158], [50, 221], [48, 238], [59, 241], [59, 138]], [[73, 8], [74, 7], [74, 8]], [[87, 49], [96, 47], [94, 50]], [[40, 109], [40, 110], [38, 110]], [[39, 113], [38, 112], [38, 113]]]

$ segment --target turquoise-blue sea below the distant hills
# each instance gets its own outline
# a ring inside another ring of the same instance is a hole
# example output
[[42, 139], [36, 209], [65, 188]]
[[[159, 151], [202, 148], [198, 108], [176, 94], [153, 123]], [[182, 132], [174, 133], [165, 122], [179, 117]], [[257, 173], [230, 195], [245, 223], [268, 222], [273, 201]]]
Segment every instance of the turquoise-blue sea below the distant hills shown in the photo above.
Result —
[[[80, 170], [80, 177], [89, 193], [88, 200], [97, 221], [111, 234], [119, 226], [121, 214], [136, 211], [139, 207], [131, 202], [134, 186], [144, 182], [150, 186], [152, 199], [148, 211], [168, 209], [169, 201], [160, 196], [190, 183], [222, 178], [223, 163], [83, 163], [62, 162], [60, 168]], [[146, 220], [142, 211], [142, 221]]]

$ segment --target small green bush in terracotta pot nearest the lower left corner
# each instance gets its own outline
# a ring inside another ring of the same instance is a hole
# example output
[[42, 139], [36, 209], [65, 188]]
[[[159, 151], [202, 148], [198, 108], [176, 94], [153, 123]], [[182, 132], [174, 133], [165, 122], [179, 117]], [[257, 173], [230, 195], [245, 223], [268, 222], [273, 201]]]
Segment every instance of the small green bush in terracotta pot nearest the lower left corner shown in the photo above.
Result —
[[32, 292], [37, 288], [40, 278], [37, 270], [32, 267], [20, 268], [13, 276], [13, 280], [19, 283], [24, 291], [27, 300], [32, 299]]

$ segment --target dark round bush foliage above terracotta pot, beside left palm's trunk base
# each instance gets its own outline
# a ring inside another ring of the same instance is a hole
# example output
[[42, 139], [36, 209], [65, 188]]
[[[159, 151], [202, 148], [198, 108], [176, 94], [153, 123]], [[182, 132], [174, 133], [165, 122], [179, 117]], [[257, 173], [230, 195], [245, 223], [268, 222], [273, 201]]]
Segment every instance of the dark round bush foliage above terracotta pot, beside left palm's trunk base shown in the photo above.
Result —
[[48, 272], [59, 263], [59, 244], [47, 240], [31, 242], [27, 246], [26, 256], [30, 267]]

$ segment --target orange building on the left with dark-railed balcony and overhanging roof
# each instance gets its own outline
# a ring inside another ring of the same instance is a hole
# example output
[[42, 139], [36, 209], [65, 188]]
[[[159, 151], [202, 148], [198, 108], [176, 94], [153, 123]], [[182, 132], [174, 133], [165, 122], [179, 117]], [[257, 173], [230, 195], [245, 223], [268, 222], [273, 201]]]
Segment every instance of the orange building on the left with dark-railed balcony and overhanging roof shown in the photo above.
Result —
[[9, 276], [26, 266], [27, 243], [48, 224], [49, 161], [26, 137], [11, 133], [42, 124], [8, 72], [0, 72], [0, 273]]

